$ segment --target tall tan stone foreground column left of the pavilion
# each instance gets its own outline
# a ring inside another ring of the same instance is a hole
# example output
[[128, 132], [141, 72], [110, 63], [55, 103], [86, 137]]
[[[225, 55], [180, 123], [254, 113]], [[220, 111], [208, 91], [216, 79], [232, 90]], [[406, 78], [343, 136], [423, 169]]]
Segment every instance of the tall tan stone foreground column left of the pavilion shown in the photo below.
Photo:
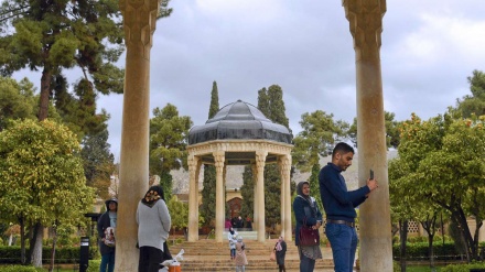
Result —
[[138, 203], [149, 182], [150, 50], [158, 0], [120, 0], [127, 45], [115, 271], [138, 270]]

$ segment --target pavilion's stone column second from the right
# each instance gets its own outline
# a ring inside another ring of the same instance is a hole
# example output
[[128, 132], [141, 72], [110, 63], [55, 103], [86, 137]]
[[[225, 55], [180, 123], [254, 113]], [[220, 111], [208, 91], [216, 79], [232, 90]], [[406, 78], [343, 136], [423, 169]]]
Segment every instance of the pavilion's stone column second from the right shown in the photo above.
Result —
[[265, 222], [265, 163], [268, 151], [256, 152], [256, 167], [258, 168], [258, 241], [263, 242], [266, 237]]

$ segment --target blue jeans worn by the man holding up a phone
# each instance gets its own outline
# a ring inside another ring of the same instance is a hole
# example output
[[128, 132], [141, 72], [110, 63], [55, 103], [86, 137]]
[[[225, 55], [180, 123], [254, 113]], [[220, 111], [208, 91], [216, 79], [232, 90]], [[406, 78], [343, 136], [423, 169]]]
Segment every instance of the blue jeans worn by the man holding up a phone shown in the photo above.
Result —
[[355, 228], [347, 225], [327, 224], [325, 233], [332, 247], [335, 272], [352, 272], [358, 242]]

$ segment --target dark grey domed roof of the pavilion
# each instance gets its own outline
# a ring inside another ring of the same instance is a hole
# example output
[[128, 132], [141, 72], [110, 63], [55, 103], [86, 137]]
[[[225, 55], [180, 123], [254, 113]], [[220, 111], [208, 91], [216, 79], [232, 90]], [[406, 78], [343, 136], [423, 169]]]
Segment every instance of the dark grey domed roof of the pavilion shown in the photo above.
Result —
[[237, 100], [224, 106], [203, 126], [194, 126], [188, 132], [188, 144], [214, 140], [269, 140], [292, 143], [290, 130], [272, 122], [255, 106]]

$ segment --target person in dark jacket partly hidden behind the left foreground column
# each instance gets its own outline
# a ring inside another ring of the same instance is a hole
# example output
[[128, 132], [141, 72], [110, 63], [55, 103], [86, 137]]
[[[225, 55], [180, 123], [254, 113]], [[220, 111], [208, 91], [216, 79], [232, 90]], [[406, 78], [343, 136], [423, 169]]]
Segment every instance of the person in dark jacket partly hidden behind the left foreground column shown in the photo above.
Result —
[[[98, 219], [99, 251], [101, 265], [99, 272], [115, 271], [115, 228], [118, 210], [118, 199], [111, 198], [105, 202], [106, 211]], [[108, 269], [107, 269], [108, 268]]]

